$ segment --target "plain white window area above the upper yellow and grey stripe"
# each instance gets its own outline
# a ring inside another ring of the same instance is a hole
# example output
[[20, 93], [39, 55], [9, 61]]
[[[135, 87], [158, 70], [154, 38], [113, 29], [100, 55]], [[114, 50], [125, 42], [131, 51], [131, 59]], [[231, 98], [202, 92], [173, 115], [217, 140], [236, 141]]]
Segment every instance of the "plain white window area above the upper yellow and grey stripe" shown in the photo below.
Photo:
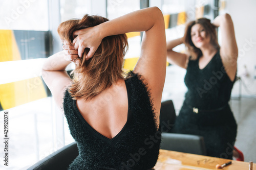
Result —
[[48, 1], [1, 0], [0, 29], [48, 31]]

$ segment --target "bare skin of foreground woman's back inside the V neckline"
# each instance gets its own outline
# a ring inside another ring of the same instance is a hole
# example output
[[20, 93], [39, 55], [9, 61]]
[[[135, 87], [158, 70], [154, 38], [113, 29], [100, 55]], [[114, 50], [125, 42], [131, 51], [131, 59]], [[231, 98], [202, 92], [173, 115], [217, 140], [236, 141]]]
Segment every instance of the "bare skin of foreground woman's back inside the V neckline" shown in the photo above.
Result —
[[76, 106], [94, 130], [112, 139], [127, 122], [128, 99], [124, 80], [119, 80], [90, 101], [77, 100]]

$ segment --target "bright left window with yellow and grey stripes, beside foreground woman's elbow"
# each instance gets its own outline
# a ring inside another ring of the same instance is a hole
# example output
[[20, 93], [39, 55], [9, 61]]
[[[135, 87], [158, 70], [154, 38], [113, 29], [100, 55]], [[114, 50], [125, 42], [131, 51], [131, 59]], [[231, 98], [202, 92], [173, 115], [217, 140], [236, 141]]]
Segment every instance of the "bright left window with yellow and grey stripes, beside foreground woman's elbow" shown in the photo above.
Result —
[[[48, 1], [3, 1], [0, 15], [0, 109], [9, 110], [8, 167], [26, 167], [52, 150], [52, 111], [45, 107], [52, 100], [40, 77], [50, 52]], [[3, 137], [3, 111], [0, 115]]]

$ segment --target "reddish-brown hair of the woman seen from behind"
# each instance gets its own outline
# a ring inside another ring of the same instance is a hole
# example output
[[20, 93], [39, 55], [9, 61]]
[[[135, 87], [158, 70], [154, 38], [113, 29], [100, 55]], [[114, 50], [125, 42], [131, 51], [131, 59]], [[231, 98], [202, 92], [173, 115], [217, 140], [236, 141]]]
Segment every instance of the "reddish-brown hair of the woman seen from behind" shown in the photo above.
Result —
[[[97, 15], [84, 15], [82, 19], [71, 19], [60, 23], [58, 34], [62, 40], [72, 44], [73, 32], [94, 27], [109, 19]], [[86, 61], [89, 48], [84, 50], [81, 58], [74, 62], [76, 67], [71, 72], [73, 83], [69, 92], [74, 100], [90, 100], [104, 89], [126, 76], [122, 69], [124, 55], [128, 48], [125, 34], [108, 36], [102, 39], [94, 56]]]

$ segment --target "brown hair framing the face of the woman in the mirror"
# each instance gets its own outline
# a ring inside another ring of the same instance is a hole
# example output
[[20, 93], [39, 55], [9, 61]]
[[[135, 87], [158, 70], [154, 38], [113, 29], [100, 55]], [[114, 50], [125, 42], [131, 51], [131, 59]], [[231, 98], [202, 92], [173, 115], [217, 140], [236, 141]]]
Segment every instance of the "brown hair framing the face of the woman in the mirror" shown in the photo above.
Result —
[[187, 47], [187, 51], [191, 55], [191, 60], [196, 60], [198, 57], [202, 56], [202, 51], [194, 45], [191, 39], [191, 28], [199, 23], [201, 26], [203, 26], [206, 36], [210, 36], [210, 43], [217, 49], [219, 50], [220, 45], [218, 43], [218, 38], [217, 38], [217, 32], [216, 32], [216, 27], [212, 25], [210, 22], [210, 19], [207, 18], [199, 18], [194, 21], [190, 21], [187, 23], [186, 28], [185, 28], [185, 34], [184, 34], [184, 44]]

